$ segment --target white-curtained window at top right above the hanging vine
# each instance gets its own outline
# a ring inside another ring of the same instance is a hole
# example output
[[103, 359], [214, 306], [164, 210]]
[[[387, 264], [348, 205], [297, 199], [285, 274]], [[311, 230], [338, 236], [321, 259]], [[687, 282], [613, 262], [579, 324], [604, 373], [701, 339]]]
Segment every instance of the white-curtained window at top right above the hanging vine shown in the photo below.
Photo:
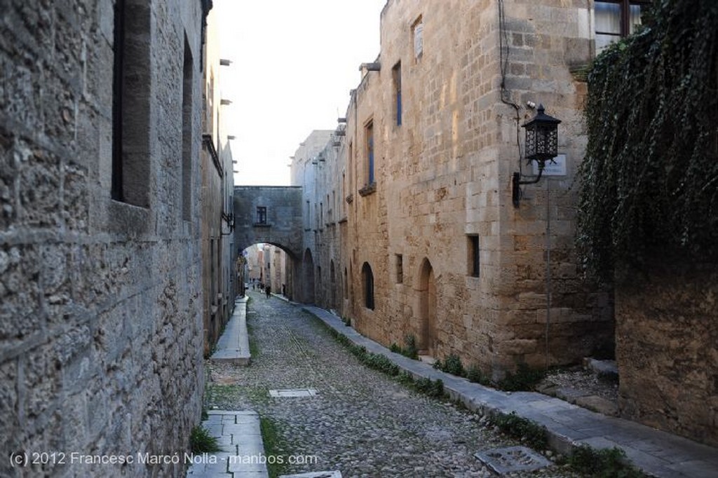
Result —
[[595, 1], [596, 52], [632, 34], [640, 25], [641, 9], [649, 3], [647, 0]]

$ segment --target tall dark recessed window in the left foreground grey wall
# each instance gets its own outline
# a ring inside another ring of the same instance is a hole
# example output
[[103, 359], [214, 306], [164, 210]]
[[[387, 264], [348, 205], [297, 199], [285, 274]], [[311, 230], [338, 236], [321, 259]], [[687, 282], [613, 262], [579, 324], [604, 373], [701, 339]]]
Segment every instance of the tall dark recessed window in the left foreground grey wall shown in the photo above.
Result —
[[150, 179], [150, 90], [146, 85], [151, 80], [152, 62], [151, 6], [147, 3], [116, 0], [113, 37], [110, 195], [113, 200], [140, 207], [149, 207]]

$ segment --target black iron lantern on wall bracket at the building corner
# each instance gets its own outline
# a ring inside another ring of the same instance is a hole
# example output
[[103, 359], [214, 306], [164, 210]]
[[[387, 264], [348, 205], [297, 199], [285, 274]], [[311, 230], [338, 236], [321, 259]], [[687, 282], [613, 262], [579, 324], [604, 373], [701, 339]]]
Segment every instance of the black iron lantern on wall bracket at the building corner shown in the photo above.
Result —
[[541, 179], [546, 161], [559, 155], [559, 123], [561, 120], [544, 113], [544, 105], [538, 105], [538, 113], [523, 125], [526, 128], [526, 159], [538, 163], [538, 176], [531, 181], [521, 181], [521, 173], [513, 173], [513, 205], [521, 200], [521, 184], [535, 184]]

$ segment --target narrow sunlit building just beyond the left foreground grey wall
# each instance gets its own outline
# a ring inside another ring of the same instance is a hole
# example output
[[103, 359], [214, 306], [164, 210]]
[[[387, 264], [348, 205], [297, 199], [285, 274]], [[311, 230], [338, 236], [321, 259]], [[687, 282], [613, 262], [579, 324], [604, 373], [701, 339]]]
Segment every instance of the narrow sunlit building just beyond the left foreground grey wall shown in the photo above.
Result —
[[202, 115], [202, 290], [205, 355], [219, 339], [220, 331], [229, 320], [234, 296], [241, 291], [235, 270], [234, 250], [234, 174], [232, 151], [228, 142], [223, 110], [229, 100], [222, 98], [219, 88], [221, 69], [228, 60], [221, 60], [218, 40], [218, 13], [207, 16], [203, 55], [203, 88], [205, 98]]

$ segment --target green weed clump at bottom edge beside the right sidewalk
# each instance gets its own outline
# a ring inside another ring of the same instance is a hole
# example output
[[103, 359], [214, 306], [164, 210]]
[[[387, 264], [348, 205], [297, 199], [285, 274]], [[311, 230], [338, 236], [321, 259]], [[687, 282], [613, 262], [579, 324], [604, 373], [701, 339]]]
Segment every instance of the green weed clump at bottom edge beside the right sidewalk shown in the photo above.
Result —
[[597, 478], [645, 478], [640, 469], [630, 464], [625, 451], [611, 449], [592, 449], [590, 446], [577, 446], [568, 459], [569, 465], [579, 473]]

